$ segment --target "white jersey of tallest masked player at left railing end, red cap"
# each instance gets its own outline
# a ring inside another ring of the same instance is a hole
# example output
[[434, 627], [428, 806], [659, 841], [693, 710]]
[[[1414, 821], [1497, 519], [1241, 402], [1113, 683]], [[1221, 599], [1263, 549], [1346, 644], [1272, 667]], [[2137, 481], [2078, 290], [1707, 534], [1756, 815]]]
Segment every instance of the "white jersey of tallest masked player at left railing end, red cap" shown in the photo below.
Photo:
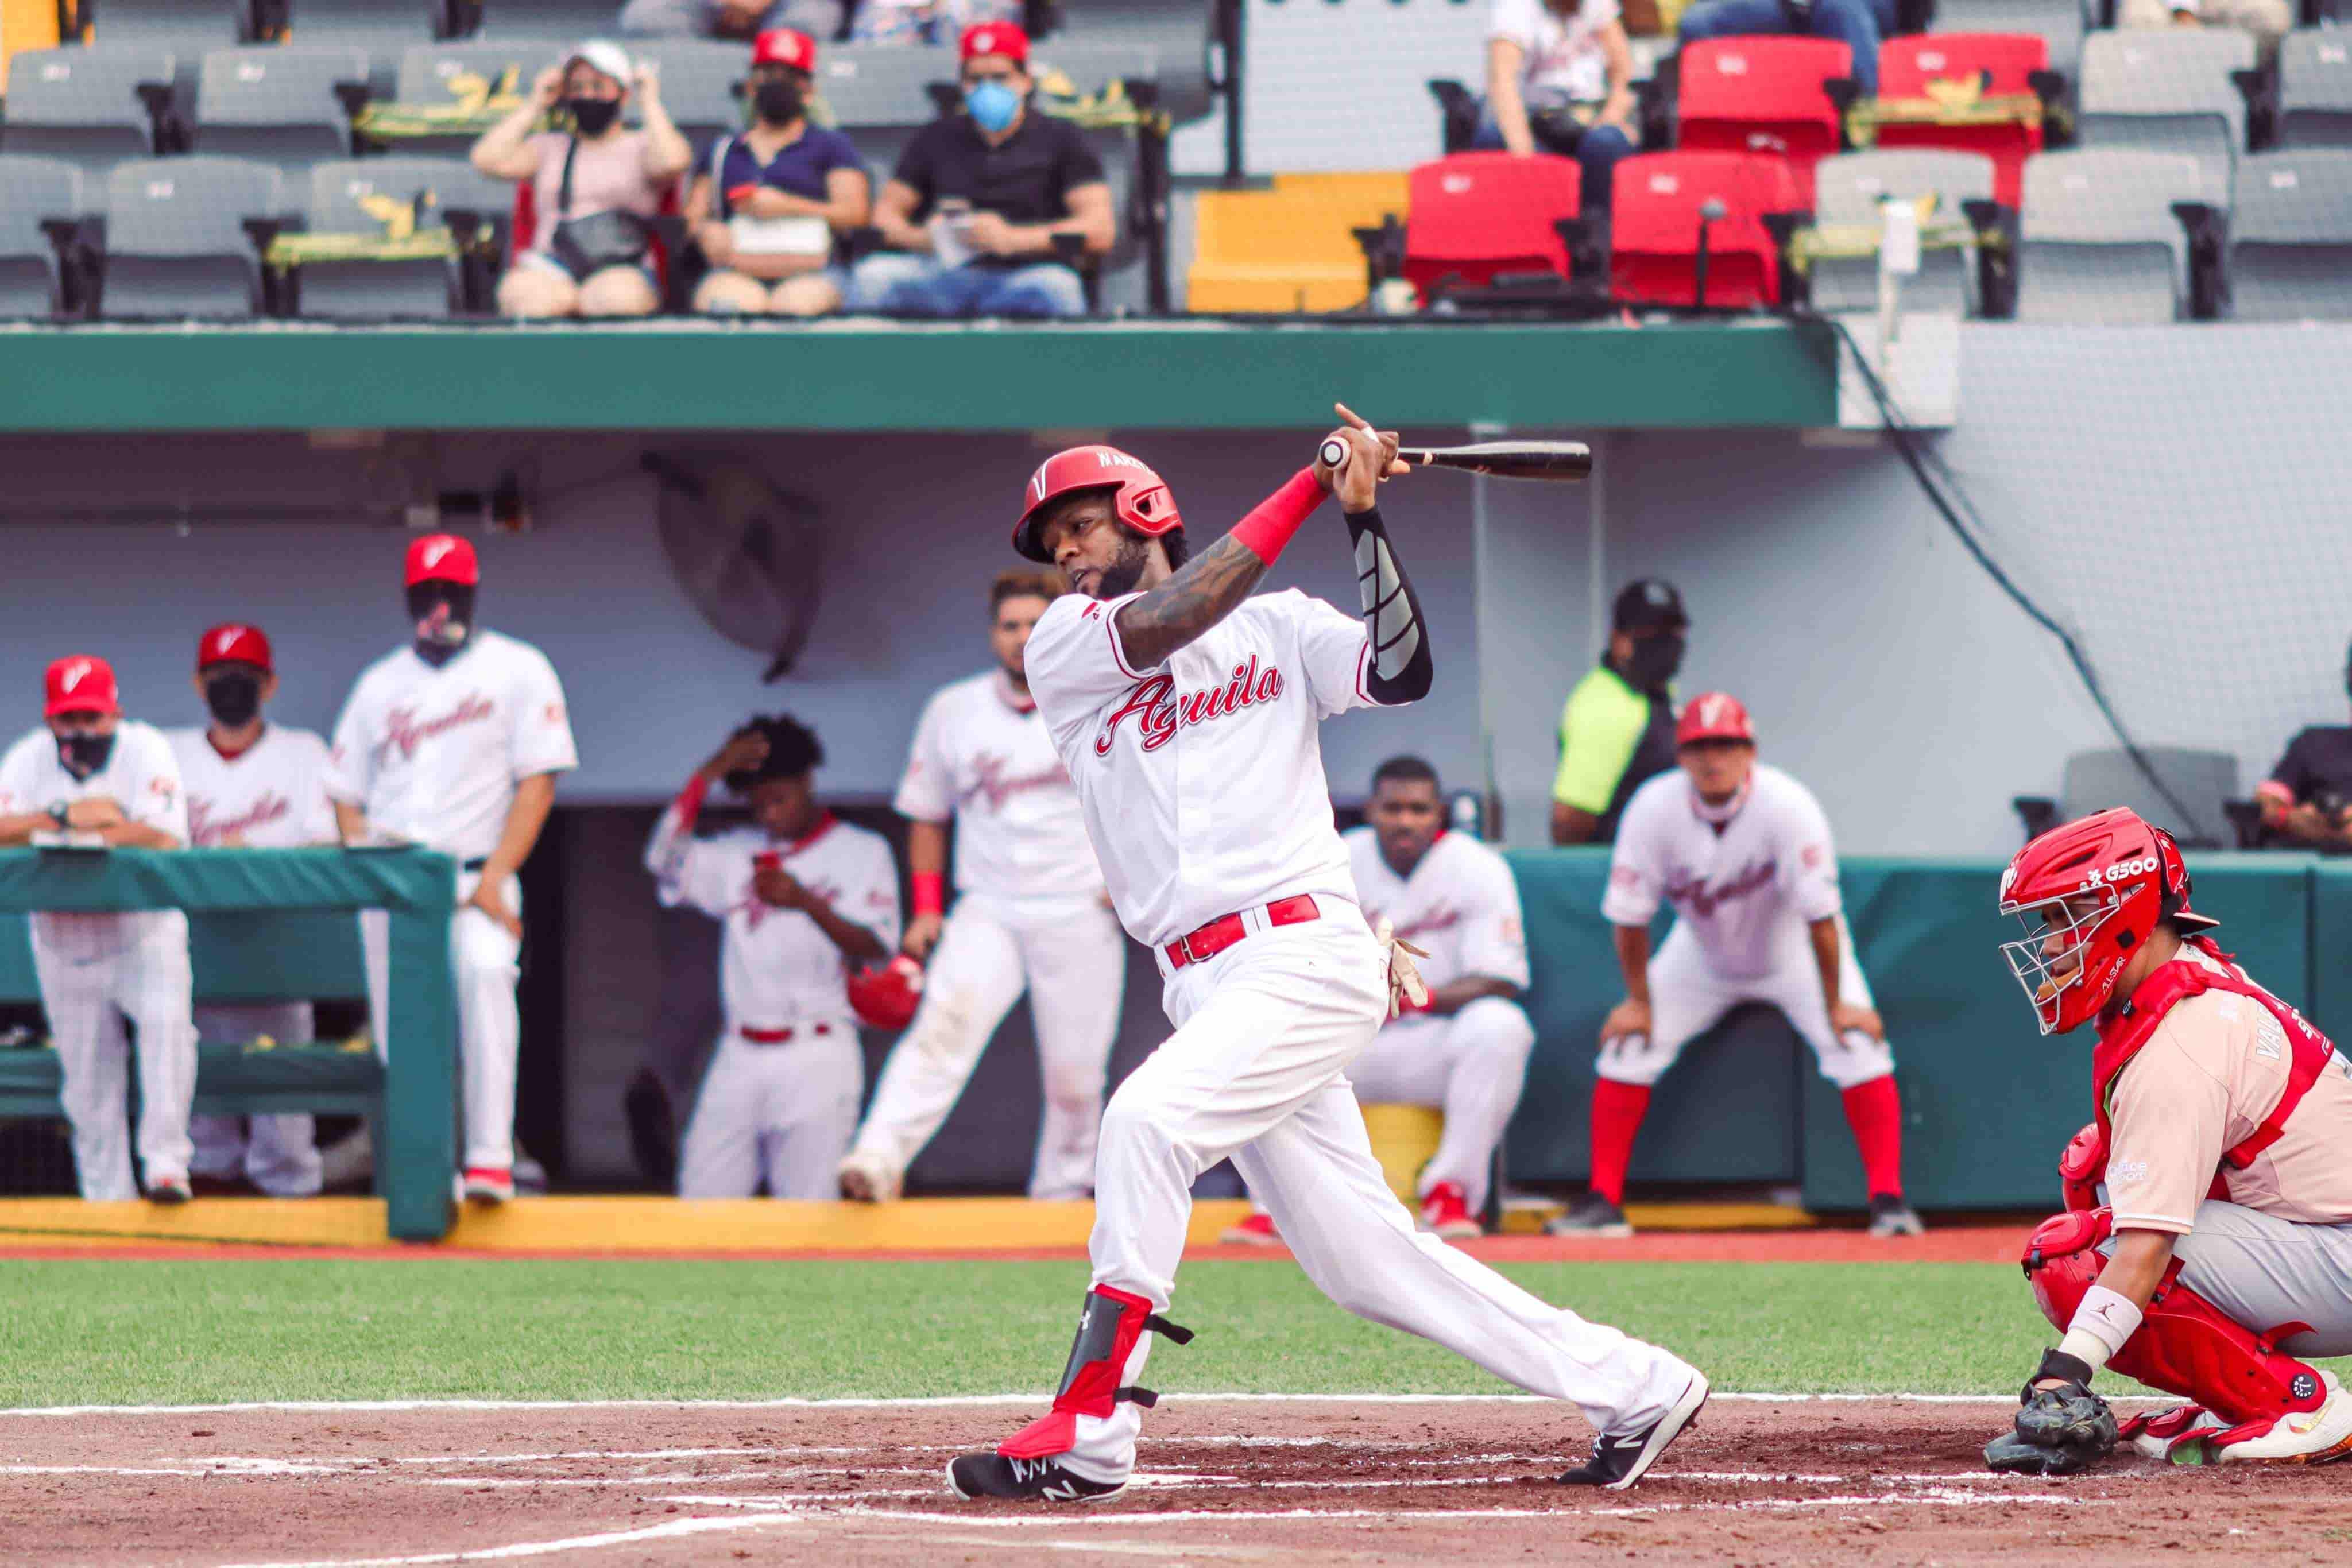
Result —
[[416, 649], [367, 665], [334, 724], [327, 795], [365, 809], [376, 832], [480, 860], [515, 783], [574, 766], [555, 665], [485, 630], [437, 670]]

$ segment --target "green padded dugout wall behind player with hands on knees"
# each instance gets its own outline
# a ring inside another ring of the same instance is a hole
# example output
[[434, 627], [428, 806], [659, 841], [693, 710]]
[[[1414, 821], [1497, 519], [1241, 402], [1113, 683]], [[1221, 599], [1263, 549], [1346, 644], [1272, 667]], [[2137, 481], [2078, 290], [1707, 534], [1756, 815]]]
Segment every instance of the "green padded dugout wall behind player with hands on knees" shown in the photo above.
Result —
[[[1536, 1056], [1505, 1145], [1510, 1175], [1590, 1171], [1592, 1053], [1623, 997], [1599, 914], [1599, 849], [1515, 851], [1536, 985]], [[2225, 950], [2324, 1030], [2352, 1018], [2352, 865], [2199, 856], [2197, 907]], [[1922, 1208], [2058, 1201], [2058, 1150], [2091, 1119], [2091, 1037], [2044, 1039], [2002, 961], [1999, 860], [1849, 858], [1846, 922], [1886, 1018], [1903, 1091], [1903, 1175]], [[1661, 926], [1663, 929], [1663, 926]], [[1738, 1009], [1658, 1084], [1632, 1180], [1788, 1182], [1809, 1208], [1860, 1208], [1837, 1091], [1771, 1009]]]

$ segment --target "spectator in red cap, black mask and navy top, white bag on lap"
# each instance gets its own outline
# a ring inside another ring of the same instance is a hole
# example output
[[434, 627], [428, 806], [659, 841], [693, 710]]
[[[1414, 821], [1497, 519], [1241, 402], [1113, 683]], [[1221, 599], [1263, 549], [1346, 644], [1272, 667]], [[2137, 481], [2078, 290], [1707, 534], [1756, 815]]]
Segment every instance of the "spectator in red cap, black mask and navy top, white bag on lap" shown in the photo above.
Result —
[[760, 33], [750, 52], [755, 120], [722, 136], [694, 176], [687, 221], [710, 261], [694, 292], [708, 315], [826, 315], [842, 303], [835, 240], [866, 226], [870, 186], [849, 136], [809, 125], [816, 40]]

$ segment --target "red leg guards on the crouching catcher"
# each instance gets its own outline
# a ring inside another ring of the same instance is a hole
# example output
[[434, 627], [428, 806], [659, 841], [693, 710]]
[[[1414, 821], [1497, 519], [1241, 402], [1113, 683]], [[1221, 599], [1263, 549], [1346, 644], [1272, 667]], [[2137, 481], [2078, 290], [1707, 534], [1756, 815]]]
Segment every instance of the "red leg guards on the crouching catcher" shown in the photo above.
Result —
[[[2044, 1220], [2025, 1244], [2025, 1276], [2034, 1286], [2034, 1300], [2042, 1302], [2042, 1316], [2060, 1331], [2074, 1321], [2074, 1307], [2107, 1267], [2098, 1246], [2112, 1229], [2112, 1211], [2079, 1208]], [[2317, 1410], [2326, 1401], [2319, 1371], [2279, 1352], [2279, 1340], [2307, 1328], [2246, 1328], [2183, 1286], [2180, 1260], [2173, 1258], [2140, 1326], [2107, 1366], [2152, 1389], [2194, 1399], [2223, 1420], [2267, 1429], [2279, 1415]]]

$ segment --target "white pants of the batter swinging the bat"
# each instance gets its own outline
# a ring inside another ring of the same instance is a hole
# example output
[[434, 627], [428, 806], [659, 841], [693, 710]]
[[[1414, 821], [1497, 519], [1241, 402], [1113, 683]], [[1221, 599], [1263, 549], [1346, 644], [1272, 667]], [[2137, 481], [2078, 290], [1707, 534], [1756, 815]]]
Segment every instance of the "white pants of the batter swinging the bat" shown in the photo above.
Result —
[[[1317, 898], [1322, 919], [1263, 926], [1167, 980], [1176, 1034], [1136, 1067], [1103, 1114], [1094, 1187], [1094, 1284], [1164, 1312], [1176, 1288], [1192, 1180], [1232, 1157], [1308, 1279], [1334, 1302], [1418, 1333], [1534, 1394], [1573, 1401], [1595, 1427], [1665, 1415], [1691, 1366], [1616, 1328], [1552, 1307], [1437, 1237], [1414, 1229], [1371, 1157], [1348, 1086], [1388, 1013], [1388, 976], [1364, 917]], [[1164, 959], [1162, 959], [1164, 964]], [[1122, 1368], [1131, 1385], [1143, 1335]], [[1077, 1418], [1070, 1469], [1120, 1481], [1143, 1413]]]

